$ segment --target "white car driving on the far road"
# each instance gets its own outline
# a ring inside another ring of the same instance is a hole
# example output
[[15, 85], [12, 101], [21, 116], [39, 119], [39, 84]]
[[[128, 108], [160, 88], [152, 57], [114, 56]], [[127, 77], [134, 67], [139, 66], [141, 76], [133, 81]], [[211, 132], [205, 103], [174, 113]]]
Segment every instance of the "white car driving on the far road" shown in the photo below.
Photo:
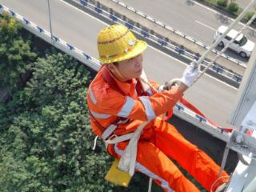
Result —
[[[227, 29], [227, 26], [220, 26], [214, 34], [214, 40], [216, 41]], [[236, 30], [230, 30], [225, 38], [218, 43], [219, 46], [226, 46], [232, 38], [238, 34]], [[251, 52], [254, 50], [254, 42], [250, 41], [244, 34], [239, 34], [238, 38], [234, 40], [229, 46], [231, 50], [234, 50], [240, 54], [243, 58], [250, 57]]]

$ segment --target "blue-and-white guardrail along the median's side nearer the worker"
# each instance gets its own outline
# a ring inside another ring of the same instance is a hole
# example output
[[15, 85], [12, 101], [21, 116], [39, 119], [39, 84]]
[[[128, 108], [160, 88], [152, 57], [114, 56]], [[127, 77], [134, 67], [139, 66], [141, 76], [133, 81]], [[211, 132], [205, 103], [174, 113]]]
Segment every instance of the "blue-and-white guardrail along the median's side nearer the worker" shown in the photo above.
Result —
[[[102, 19], [104, 22], [108, 23], [109, 25], [112, 25], [115, 22], [121, 23], [122, 25], [127, 26], [130, 30], [133, 30], [136, 35], [139, 35], [139, 38], [142, 38], [144, 41], [148, 42], [150, 45], [153, 45], [158, 50], [162, 50], [166, 54], [175, 55], [175, 58], [179, 58], [181, 60], [186, 60], [186, 63], [191, 62], [194, 59], [198, 60], [198, 57], [200, 54], [191, 54], [189, 51], [185, 49], [185, 47], [177, 45], [177, 43], [173, 43], [170, 41], [166, 41], [166, 38], [163, 38], [161, 35], [154, 35], [150, 34], [149, 31], [147, 31], [143, 26], [139, 25], [137, 26], [136, 23], [131, 24], [129, 21], [122, 20], [122, 15], [118, 14], [116, 16], [114, 14], [113, 10], [110, 10], [110, 13], [108, 12], [110, 8], [103, 6], [99, 2], [96, 2], [96, 4], [92, 4], [91, 2], [87, 2], [86, 0], [64, 0], [65, 2], [70, 3], [70, 5], [77, 7], [80, 10], [83, 10], [87, 13], [92, 14], [95, 18]], [[127, 11], [127, 10], [126, 10]], [[126, 18], [127, 19], [127, 18]], [[139, 24], [139, 23], [138, 23]], [[184, 40], [184, 39], [183, 39]], [[205, 50], [204, 50], [205, 52]], [[203, 53], [204, 53], [203, 52]], [[208, 66], [210, 63], [209, 60], [204, 60], [202, 62], [202, 67]], [[234, 63], [232, 63], [233, 69], [234, 69]], [[242, 81], [242, 74], [236, 74], [234, 71], [227, 70], [226, 67], [218, 65], [218, 63], [214, 63], [212, 66], [210, 66], [210, 74], [218, 74], [218, 78], [222, 79], [222, 81], [227, 82], [228, 84], [238, 87], [240, 82]], [[243, 73], [242, 69], [242, 73]], [[215, 75], [214, 75], [215, 76]]]

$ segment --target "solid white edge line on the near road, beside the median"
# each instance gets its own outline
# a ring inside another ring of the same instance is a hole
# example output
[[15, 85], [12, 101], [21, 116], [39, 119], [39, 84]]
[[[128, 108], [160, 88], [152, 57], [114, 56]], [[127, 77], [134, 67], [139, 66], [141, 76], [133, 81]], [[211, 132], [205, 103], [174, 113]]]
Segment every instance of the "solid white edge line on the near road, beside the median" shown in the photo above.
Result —
[[[60, 1], [61, 1], [61, 2], [64, 2], [67, 6], [71, 6], [71, 7], [74, 8], [75, 10], [78, 10], [79, 12], [81, 12], [81, 13], [83, 13], [83, 14], [86, 14], [86, 15], [89, 16], [90, 18], [94, 18], [92, 15], [87, 14], [86, 12], [84, 12], [84, 11], [82, 11], [82, 10], [79, 10], [77, 7], [75, 7], [75, 6], [73, 6], [73, 5], [70, 5], [68, 2], [65, 2], [64, 0], [60, 0]], [[106, 25], [106, 26], [109, 26], [106, 22], [103, 22], [102, 20], [100, 20], [100, 19], [98, 19], [98, 18], [94, 18], [94, 19], [96, 19], [98, 22], [101, 22], [102, 24], [104, 24], [104, 25]], [[214, 30], [214, 31], [215, 31], [215, 30]], [[149, 46], [150, 48], [152, 48], [153, 50], [156, 50], [156, 51], [158, 51], [159, 53], [164, 54], [164, 55], [166, 55], [166, 56], [169, 57], [169, 58], [172, 58], [174, 61], [180, 62], [180, 63], [182, 63], [182, 65], [187, 66], [187, 63], [186, 63], [186, 62], [182, 62], [181, 60], [178, 60], [178, 58], [174, 58], [174, 57], [170, 56], [169, 54], [166, 54], [166, 53], [163, 52], [162, 50], [158, 50], [158, 49], [154, 48], [154, 46], [150, 46], [150, 45], [148, 45], [148, 46]], [[208, 76], [209, 78], [214, 78], [214, 77], [210, 76], [209, 74], [205, 74], [205, 75]], [[218, 82], [220, 82], [220, 83], [223, 83], [223, 84], [225, 84], [226, 86], [229, 86], [230, 88], [232, 88], [232, 89], [234, 89], [234, 90], [238, 90], [236, 87], [230, 86], [229, 84], [227, 84], [226, 82], [222, 82], [222, 81], [219, 80], [218, 78], [214, 78], [214, 80], [216, 80], [216, 81], [218, 81]]]

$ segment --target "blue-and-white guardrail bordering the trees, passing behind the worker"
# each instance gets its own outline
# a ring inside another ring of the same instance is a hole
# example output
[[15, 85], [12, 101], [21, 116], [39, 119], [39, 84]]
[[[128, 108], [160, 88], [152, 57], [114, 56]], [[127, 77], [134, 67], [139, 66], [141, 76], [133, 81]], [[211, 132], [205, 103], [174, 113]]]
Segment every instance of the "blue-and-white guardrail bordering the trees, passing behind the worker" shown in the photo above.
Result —
[[[100, 11], [96, 9], [96, 7], [95, 7], [95, 10]], [[82, 50], [79, 50], [78, 48], [76, 48], [75, 46], [72, 46], [68, 42], [65, 42], [61, 38], [58, 38], [56, 36], [50, 36], [49, 31], [43, 29], [41, 26], [34, 24], [34, 22], [30, 22], [28, 19], [15, 13], [14, 11], [10, 10], [8, 7], [0, 4], [0, 14], [3, 14], [4, 12], [10, 14], [12, 17], [16, 18], [19, 22], [21, 22], [24, 28], [26, 28], [26, 30], [29, 30], [31, 33], [37, 35], [39, 38], [44, 39], [46, 42], [49, 42], [52, 46], [57, 47], [58, 49], [65, 52], [66, 54], [70, 54], [71, 56], [78, 59], [80, 62], [82, 62], [86, 66], [89, 66], [91, 69], [98, 71], [102, 66], [102, 64], [98, 62], [98, 59], [91, 57], [89, 54], [86, 54]], [[200, 127], [202, 130], [205, 130], [206, 132], [214, 135], [214, 137], [219, 138], [224, 142], [227, 141], [227, 138], [229, 135], [228, 133], [219, 129], [216, 126], [211, 125], [206, 118], [203, 118], [202, 116], [194, 113], [192, 110], [189, 110], [188, 108], [186, 108], [186, 106], [182, 106], [182, 104], [180, 103], [176, 104], [176, 106], [174, 107], [174, 114], [192, 123], [193, 125]]]

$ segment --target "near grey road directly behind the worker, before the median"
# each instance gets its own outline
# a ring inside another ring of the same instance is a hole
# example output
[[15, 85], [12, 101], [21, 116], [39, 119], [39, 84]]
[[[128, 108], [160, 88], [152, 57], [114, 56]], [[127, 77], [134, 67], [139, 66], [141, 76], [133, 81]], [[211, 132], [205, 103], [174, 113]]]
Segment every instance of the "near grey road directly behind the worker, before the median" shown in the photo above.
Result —
[[[159, 0], [160, 1], [160, 0]], [[46, 0], [0, 0], [4, 6], [49, 30]], [[167, 2], [167, 1], [166, 1]], [[97, 58], [96, 38], [106, 24], [60, 0], [50, 1], [54, 35]], [[182, 76], [186, 65], [170, 55], [149, 47], [144, 54], [144, 68], [149, 78], [163, 83]], [[229, 126], [230, 115], [238, 90], [209, 76], [202, 76], [185, 98], [198, 106], [208, 118], [221, 126]]]

